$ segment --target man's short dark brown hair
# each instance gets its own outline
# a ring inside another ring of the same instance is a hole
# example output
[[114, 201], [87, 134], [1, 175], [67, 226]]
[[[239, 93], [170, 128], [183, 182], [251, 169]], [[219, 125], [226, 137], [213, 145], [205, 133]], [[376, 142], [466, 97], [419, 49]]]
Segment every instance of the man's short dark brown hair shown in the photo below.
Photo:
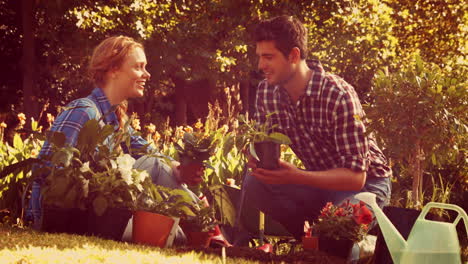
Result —
[[301, 59], [307, 56], [307, 29], [297, 18], [278, 16], [262, 20], [254, 31], [255, 42], [273, 41], [287, 58], [294, 47], [301, 51]]

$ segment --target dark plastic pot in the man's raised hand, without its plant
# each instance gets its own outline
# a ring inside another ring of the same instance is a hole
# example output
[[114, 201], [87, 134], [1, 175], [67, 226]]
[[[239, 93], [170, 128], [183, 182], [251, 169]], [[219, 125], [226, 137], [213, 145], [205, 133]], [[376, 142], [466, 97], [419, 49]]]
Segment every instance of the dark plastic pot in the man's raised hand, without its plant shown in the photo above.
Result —
[[271, 141], [262, 141], [254, 144], [257, 153], [259, 168], [267, 170], [276, 170], [279, 168], [278, 159], [280, 158], [280, 144]]

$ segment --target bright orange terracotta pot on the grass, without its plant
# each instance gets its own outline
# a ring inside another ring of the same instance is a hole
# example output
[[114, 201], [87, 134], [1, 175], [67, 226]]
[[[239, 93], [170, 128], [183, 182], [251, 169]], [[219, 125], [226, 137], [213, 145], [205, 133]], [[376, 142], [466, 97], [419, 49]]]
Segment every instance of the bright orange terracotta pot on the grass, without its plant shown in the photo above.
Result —
[[157, 247], [169, 247], [175, 237], [178, 218], [136, 211], [133, 213], [133, 242]]

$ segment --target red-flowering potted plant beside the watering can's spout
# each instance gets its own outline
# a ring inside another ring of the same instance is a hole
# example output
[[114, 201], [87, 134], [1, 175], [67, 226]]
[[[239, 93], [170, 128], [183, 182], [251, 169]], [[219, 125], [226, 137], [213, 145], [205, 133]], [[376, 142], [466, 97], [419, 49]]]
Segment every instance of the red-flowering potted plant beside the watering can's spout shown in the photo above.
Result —
[[320, 213], [313, 225], [319, 250], [342, 258], [347, 258], [354, 243], [364, 238], [373, 220], [363, 202], [351, 204], [347, 201], [341, 206], [329, 202]]

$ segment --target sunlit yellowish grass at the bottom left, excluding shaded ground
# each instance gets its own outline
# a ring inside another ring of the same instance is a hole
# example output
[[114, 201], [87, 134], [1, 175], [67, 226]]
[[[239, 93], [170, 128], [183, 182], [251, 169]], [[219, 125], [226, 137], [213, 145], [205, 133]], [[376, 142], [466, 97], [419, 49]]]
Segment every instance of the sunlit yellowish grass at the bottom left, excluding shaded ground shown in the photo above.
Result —
[[[178, 253], [97, 237], [49, 234], [0, 224], [0, 263], [223, 263], [219, 256]], [[227, 258], [226, 263], [259, 263]]]

